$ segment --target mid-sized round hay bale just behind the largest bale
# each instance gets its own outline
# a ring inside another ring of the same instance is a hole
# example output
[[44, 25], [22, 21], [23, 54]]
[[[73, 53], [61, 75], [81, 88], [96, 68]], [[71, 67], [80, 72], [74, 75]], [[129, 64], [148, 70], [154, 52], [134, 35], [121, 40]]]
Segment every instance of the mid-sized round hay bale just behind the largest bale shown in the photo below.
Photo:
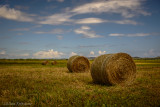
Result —
[[67, 62], [67, 68], [70, 72], [89, 72], [90, 63], [84, 56], [72, 56]]

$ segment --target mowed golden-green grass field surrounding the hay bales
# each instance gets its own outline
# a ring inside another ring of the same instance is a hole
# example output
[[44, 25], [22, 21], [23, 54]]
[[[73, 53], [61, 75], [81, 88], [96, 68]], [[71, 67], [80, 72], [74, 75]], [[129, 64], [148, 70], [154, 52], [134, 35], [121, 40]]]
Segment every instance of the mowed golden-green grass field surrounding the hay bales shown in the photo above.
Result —
[[137, 77], [130, 86], [94, 84], [90, 73], [69, 73], [67, 60], [42, 61], [0, 60], [0, 106], [160, 106], [160, 59], [135, 59]]

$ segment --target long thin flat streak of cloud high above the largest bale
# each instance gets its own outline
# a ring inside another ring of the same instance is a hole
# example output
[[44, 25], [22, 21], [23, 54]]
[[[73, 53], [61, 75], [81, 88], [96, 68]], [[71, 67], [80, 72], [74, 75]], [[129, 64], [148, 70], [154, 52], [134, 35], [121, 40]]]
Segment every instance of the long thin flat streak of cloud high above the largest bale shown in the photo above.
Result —
[[143, 36], [149, 36], [152, 35], [152, 33], [135, 33], [135, 34], [121, 34], [121, 33], [111, 33], [109, 36], [126, 36], [126, 37], [143, 37]]

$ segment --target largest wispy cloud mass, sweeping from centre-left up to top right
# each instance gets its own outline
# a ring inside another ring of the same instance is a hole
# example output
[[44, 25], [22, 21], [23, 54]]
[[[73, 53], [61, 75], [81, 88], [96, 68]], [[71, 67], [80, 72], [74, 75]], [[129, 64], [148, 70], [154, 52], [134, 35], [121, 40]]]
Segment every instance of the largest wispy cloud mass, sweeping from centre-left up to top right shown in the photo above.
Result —
[[132, 18], [137, 15], [150, 15], [149, 12], [143, 10], [144, 0], [107, 0], [107, 1], [94, 1], [91, 3], [85, 3], [83, 5], [69, 8], [64, 13], [57, 13], [47, 17], [44, 17], [40, 24], [60, 25], [60, 24], [97, 24], [97, 23], [116, 23], [116, 24], [132, 24], [137, 25], [137, 22], [133, 20], [104, 20], [100, 18], [83, 18], [73, 19], [73, 16], [80, 14], [120, 14], [124, 18]]

